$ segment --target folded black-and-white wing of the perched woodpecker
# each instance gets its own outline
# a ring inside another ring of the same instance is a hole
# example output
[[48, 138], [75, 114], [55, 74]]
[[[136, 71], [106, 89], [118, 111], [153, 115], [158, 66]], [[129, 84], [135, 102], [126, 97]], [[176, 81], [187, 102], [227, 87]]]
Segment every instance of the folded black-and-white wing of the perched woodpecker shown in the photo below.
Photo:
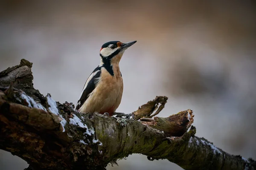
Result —
[[[82, 106], [82, 105], [84, 104], [84, 102], [87, 100], [89, 94], [95, 89], [95, 87], [96, 87], [95, 79], [100, 77], [100, 74], [101, 74], [101, 67], [98, 66], [97, 68], [95, 68], [94, 71], [92, 72], [92, 74], [93, 74], [94, 72], [96, 72], [96, 71], [99, 71], [99, 72], [98, 72], [97, 74], [95, 74], [92, 79], [90, 79], [90, 81], [88, 82], [86, 88], [84, 89], [84, 91], [82, 91], [82, 95], [81, 95], [81, 97], [80, 97], [80, 99], [78, 100], [77, 105], [76, 105], [76, 110], [78, 110], [79, 108], [81, 108], [81, 106]], [[88, 77], [88, 79], [89, 79], [89, 77]], [[88, 79], [87, 79], [87, 80], [88, 80]], [[86, 80], [86, 82], [87, 82], [87, 80]], [[85, 82], [85, 83], [86, 83], [86, 82]], [[85, 85], [85, 84], [84, 84], [84, 85]]]

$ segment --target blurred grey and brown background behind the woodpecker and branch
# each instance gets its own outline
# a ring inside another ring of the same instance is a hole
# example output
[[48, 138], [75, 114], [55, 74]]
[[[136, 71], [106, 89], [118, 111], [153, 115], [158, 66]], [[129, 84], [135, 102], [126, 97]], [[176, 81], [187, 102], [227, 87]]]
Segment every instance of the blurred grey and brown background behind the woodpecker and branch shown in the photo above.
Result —
[[[137, 43], [122, 57], [119, 112], [155, 96], [169, 100], [159, 116], [192, 109], [196, 135], [231, 154], [256, 159], [256, 3], [210, 0], [0, 2], [0, 71], [25, 58], [34, 87], [76, 104], [108, 41]], [[108, 170], [182, 170], [134, 154]], [[1, 170], [25, 161], [0, 150]]]

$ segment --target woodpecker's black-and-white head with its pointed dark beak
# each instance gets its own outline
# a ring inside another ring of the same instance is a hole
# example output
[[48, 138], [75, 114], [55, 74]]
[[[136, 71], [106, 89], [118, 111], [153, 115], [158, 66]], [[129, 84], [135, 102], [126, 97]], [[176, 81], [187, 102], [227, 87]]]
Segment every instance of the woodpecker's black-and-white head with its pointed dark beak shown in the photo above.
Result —
[[119, 62], [125, 50], [137, 41], [122, 43], [120, 41], [110, 41], [102, 45], [100, 57], [105, 62]]

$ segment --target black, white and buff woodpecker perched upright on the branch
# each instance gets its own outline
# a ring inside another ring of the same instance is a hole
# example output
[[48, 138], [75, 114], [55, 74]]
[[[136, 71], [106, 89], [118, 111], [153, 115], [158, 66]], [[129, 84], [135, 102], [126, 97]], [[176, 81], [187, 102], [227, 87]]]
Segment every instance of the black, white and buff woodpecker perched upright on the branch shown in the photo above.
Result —
[[100, 64], [90, 74], [84, 84], [76, 110], [82, 113], [108, 113], [109, 116], [131, 116], [116, 113], [123, 93], [123, 79], [119, 62], [125, 50], [137, 41], [122, 43], [110, 41], [100, 49]]

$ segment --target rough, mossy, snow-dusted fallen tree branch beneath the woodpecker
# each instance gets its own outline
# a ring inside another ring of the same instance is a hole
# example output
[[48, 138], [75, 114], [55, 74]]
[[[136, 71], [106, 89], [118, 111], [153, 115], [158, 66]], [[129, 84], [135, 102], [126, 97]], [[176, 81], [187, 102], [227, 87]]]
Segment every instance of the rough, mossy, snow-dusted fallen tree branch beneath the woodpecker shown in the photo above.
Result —
[[35, 90], [31, 68], [22, 59], [0, 73], [0, 149], [26, 160], [29, 169], [105, 169], [132, 153], [168, 159], [186, 170], [256, 169], [254, 160], [195, 136], [191, 110], [151, 119], [164, 108], [165, 96], [142, 105], [135, 119], [79, 113], [72, 103]]

